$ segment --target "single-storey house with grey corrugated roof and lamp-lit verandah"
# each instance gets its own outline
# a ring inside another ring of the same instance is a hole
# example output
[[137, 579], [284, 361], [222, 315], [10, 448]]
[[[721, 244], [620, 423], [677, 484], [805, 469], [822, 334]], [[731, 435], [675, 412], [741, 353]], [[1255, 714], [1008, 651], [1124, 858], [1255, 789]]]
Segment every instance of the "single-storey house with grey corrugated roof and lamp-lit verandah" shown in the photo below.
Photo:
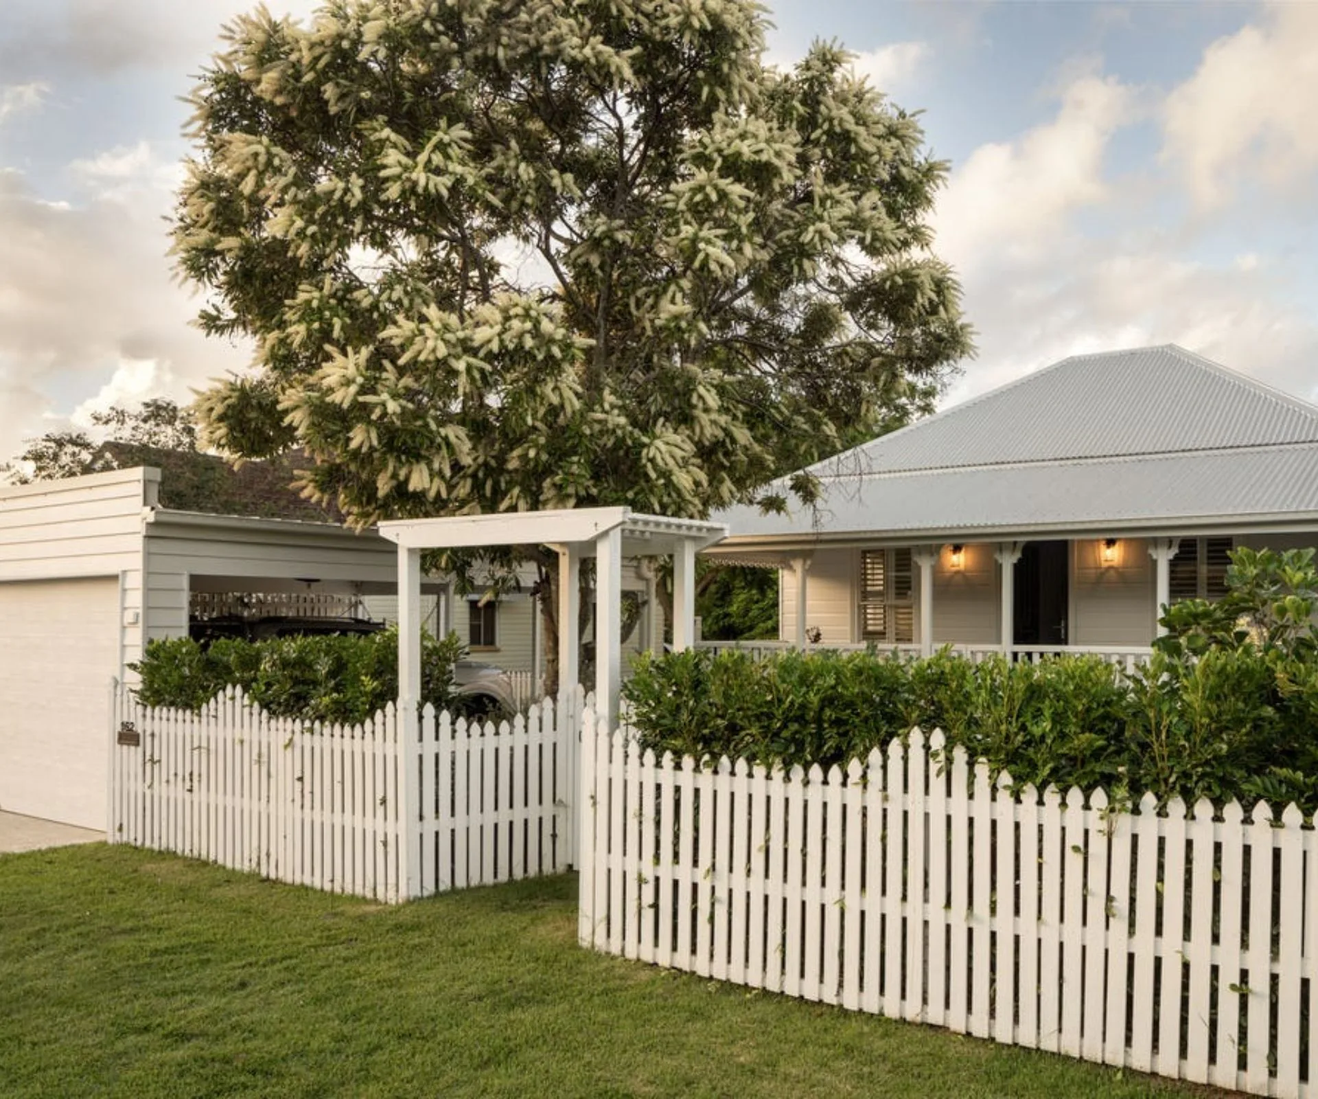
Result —
[[1318, 545], [1318, 406], [1176, 346], [1065, 359], [713, 516], [782, 570], [782, 643], [1149, 650], [1234, 546]]

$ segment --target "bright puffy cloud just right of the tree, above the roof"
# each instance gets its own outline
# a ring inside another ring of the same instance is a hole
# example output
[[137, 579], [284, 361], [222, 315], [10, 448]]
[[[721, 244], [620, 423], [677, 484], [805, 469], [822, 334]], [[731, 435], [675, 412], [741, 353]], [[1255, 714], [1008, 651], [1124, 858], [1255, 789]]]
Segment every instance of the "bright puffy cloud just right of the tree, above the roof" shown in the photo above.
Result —
[[1054, 248], [1078, 210], [1108, 198], [1104, 154], [1112, 135], [1139, 117], [1135, 90], [1086, 74], [1061, 99], [1052, 121], [975, 149], [940, 195], [936, 247], [962, 273]]

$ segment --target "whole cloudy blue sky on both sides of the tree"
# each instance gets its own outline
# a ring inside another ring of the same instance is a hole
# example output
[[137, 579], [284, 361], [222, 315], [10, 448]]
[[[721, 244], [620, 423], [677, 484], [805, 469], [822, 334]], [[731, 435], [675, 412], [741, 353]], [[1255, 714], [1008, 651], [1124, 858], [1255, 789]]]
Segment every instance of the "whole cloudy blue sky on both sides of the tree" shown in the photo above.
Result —
[[[0, 0], [0, 460], [245, 363], [188, 326], [163, 215], [179, 96], [248, 7]], [[952, 162], [937, 249], [979, 355], [946, 402], [1165, 342], [1318, 400], [1318, 3], [771, 7], [772, 59], [844, 42]]]

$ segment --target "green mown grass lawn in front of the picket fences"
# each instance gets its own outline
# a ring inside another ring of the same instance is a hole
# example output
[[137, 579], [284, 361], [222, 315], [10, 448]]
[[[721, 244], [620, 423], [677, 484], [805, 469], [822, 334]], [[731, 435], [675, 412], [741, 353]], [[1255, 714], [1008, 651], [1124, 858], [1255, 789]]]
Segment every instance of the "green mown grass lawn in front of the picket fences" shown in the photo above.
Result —
[[576, 946], [576, 881], [402, 908], [0, 856], [0, 1095], [1210, 1095]]

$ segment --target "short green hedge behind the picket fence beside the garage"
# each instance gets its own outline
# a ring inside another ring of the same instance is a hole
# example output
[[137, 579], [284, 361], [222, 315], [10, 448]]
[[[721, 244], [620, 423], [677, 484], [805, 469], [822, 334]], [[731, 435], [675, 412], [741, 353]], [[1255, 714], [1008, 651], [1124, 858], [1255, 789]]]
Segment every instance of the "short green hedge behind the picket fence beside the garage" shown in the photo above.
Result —
[[[422, 633], [422, 701], [453, 710], [453, 664], [464, 654], [456, 635]], [[398, 698], [398, 631], [365, 635], [221, 639], [203, 648], [179, 637], [150, 641], [136, 693], [146, 706], [200, 710], [227, 686], [279, 718], [364, 722]]]

